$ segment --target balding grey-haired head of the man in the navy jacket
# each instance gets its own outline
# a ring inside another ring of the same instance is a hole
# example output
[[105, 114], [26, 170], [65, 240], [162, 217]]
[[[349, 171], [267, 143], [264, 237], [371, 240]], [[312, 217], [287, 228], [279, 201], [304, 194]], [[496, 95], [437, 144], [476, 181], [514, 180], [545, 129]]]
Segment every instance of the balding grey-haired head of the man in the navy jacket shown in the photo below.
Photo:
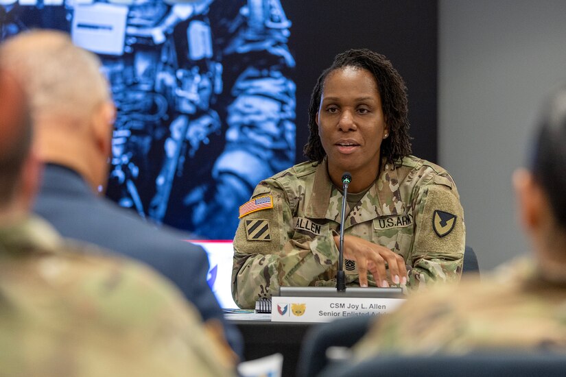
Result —
[[37, 30], [3, 42], [0, 67], [29, 99], [39, 158], [78, 171], [93, 191], [102, 191], [115, 107], [97, 56], [73, 45], [68, 34]]

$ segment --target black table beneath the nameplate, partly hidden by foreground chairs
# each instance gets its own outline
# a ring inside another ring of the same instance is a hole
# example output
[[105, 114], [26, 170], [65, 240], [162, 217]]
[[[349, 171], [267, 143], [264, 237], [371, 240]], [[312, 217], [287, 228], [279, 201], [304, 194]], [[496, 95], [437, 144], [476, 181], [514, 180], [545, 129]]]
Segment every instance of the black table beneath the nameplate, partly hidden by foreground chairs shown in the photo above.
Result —
[[[236, 313], [239, 312], [239, 313]], [[296, 376], [300, 346], [307, 332], [316, 323], [272, 322], [270, 314], [234, 311], [224, 314], [244, 337], [244, 357], [254, 360], [280, 353], [283, 355], [282, 376]]]

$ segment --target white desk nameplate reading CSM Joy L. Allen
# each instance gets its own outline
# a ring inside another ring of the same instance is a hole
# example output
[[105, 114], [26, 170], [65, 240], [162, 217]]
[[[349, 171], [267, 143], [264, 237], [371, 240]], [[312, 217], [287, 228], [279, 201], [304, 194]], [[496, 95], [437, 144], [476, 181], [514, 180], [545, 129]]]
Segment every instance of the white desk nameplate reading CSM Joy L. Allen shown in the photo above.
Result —
[[342, 317], [379, 316], [397, 309], [405, 299], [389, 297], [273, 296], [274, 322], [329, 322]]

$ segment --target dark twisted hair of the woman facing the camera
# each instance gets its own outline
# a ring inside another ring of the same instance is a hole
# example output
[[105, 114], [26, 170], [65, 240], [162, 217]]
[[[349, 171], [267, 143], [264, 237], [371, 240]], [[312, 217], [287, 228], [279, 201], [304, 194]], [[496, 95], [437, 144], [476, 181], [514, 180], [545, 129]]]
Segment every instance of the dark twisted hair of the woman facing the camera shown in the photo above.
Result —
[[381, 156], [386, 156], [389, 162], [394, 162], [398, 158], [411, 154], [407, 87], [403, 77], [385, 56], [368, 49], [351, 49], [339, 53], [334, 58], [332, 65], [318, 77], [316, 86], [314, 86], [309, 105], [309, 140], [303, 148], [305, 156], [312, 162], [321, 162], [326, 156], [326, 151], [322, 148], [320, 136], [318, 136], [316, 113], [320, 107], [327, 76], [347, 66], [366, 69], [375, 77], [390, 134], [381, 142]]

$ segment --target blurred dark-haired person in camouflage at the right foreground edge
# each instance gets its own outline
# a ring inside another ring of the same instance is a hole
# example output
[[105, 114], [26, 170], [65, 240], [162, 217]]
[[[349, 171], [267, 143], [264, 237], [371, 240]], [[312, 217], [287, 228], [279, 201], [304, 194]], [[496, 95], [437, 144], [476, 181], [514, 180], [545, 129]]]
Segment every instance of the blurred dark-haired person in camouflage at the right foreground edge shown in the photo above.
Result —
[[381, 317], [355, 346], [384, 354], [464, 354], [515, 349], [566, 352], [566, 85], [549, 97], [528, 168], [513, 186], [531, 241], [523, 256], [459, 286], [434, 287]]

